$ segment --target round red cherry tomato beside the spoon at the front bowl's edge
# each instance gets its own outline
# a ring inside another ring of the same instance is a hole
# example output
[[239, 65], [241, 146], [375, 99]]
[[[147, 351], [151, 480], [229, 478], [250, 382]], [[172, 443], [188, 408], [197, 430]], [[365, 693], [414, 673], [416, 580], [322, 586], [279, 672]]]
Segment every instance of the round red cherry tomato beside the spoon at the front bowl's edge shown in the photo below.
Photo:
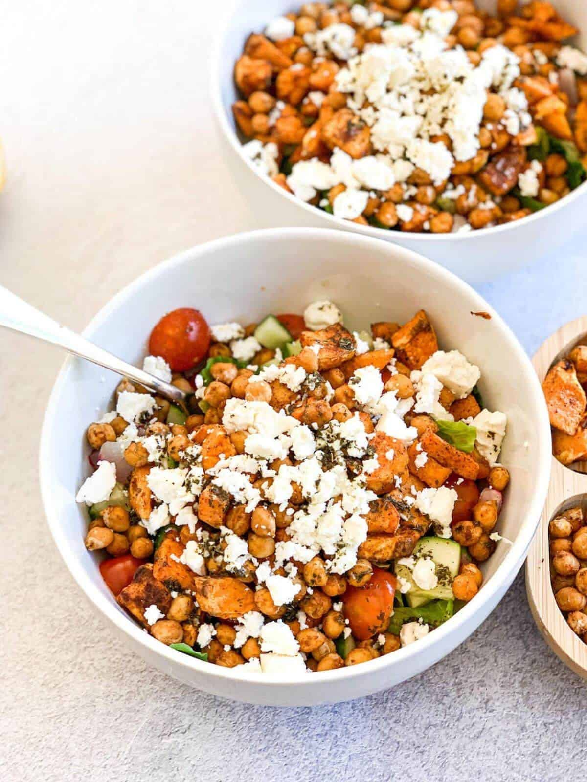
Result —
[[182, 307], [168, 312], [153, 328], [149, 353], [163, 357], [174, 372], [184, 372], [202, 361], [210, 340], [210, 327], [200, 310]]

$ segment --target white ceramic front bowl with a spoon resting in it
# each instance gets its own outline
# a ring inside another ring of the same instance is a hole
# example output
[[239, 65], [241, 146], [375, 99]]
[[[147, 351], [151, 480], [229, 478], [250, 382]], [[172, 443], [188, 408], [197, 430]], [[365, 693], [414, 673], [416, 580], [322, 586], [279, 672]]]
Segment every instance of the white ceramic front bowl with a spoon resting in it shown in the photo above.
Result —
[[[231, 236], [190, 249], [146, 272], [114, 296], [85, 335], [126, 361], [140, 362], [157, 320], [175, 307], [199, 307], [211, 323], [250, 322], [275, 311], [301, 312], [331, 299], [352, 328], [405, 321], [424, 307], [441, 346], [459, 348], [481, 366], [481, 393], [510, 418], [502, 461], [512, 475], [500, 543], [484, 566], [488, 579], [474, 600], [423, 640], [392, 655], [297, 680], [242, 673], [200, 662], [143, 632], [117, 606], [84, 547], [85, 509], [75, 503], [88, 474], [85, 429], [110, 403], [116, 375], [69, 358], [45, 415], [41, 490], [49, 526], [67, 567], [90, 601], [118, 631], [121, 643], [157, 668], [201, 690], [270, 705], [314, 705], [383, 690], [433, 665], [495, 608], [520, 569], [535, 532], [550, 469], [550, 431], [535, 371], [499, 315], [468, 285], [429, 260], [376, 239], [311, 228], [280, 228]], [[472, 311], [487, 310], [491, 320]], [[69, 587], [67, 579], [66, 588]]]

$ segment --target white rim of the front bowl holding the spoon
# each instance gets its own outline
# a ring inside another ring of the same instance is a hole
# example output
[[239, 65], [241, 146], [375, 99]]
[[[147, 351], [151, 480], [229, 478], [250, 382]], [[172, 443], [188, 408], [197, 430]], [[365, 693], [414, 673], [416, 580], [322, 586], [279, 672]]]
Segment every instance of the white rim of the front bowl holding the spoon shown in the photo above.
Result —
[[[510, 344], [510, 348], [513, 351], [513, 357], [518, 363], [520, 373], [526, 380], [528, 393], [531, 395], [531, 398], [533, 398], [535, 402], [542, 401], [542, 389], [538, 382], [538, 376], [535, 373], [529, 357], [524, 352], [523, 347], [518, 342], [515, 335], [513, 335], [510, 327], [502, 320], [502, 317], [500, 317], [499, 314], [484, 301], [482, 296], [470, 287], [470, 285], [463, 282], [456, 274], [453, 274], [451, 271], [435, 264], [433, 261], [428, 260], [420, 254], [413, 252], [411, 249], [406, 249], [405, 247], [395, 245], [391, 242], [382, 242], [381, 240], [373, 239], [372, 237], [349, 234], [348, 232], [343, 233], [328, 228], [265, 228], [257, 231], [232, 234], [184, 250], [167, 260], [161, 261], [160, 264], [143, 272], [139, 277], [135, 278], [135, 280], [124, 286], [124, 288], [117, 292], [113, 298], [110, 299], [94, 317], [92, 317], [92, 320], [88, 323], [82, 333], [84, 336], [88, 337], [88, 339], [92, 339], [95, 329], [99, 328], [115, 310], [119, 309], [121, 305], [128, 300], [129, 296], [137, 289], [148, 286], [161, 274], [164, 274], [171, 268], [181, 267], [183, 264], [187, 263], [199, 263], [200, 260], [203, 257], [205, 258], [207, 253], [210, 253], [211, 251], [230, 251], [232, 249], [239, 249], [243, 246], [244, 242], [263, 244], [275, 239], [279, 239], [280, 242], [283, 242], [284, 240], [287, 241], [288, 239], [295, 241], [301, 237], [322, 245], [326, 244], [326, 242], [354, 242], [357, 246], [360, 246], [360, 249], [366, 249], [368, 252], [369, 249], [376, 249], [378, 253], [384, 252], [389, 256], [403, 256], [403, 258], [412, 265], [420, 267], [422, 271], [431, 274], [433, 277], [438, 278], [443, 284], [450, 286], [455, 290], [457, 295], [462, 293], [465, 294], [467, 298], [473, 296], [473, 299], [478, 302], [475, 306], [480, 310], [488, 311], [492, 315], [492, 321], [497, 328], [499, 328], [500, 332], [502, 332], [503, 339]], [[238, 253], [235, 254], [235, 257], [237, 256]], [[88, 573], [86, 572], [87, 568], [82, 561], [77, 561], [74, 555], [70, 554], [69, 538], [65, 526], [61, 524], [56, 508], [53, 508], [52, 468], [50, 466], [52, 465], [52, 430], [57, 424], [56, 409], [59, 403], [59, 396], [62, 389], [70, 382], [71, 372], [79, 361], [83, 360], [69, 356], [63, 362], [59, 374], [57, 375], [56, 382], [52, 388], [51, 395], [49, 396], [49, 402], [43, 419], [39, 450], [39, 476], [45, 516], [53, 540], [65, 561], [67, 569], [69, 569], [71, 575], [77, 582], [77, 585], [81, 587], [81, 590], [83, 590], [89, 601], [94, 604], [99, 612], [106, 615], [122, 633], [130, 637], [131, 640], [134, 640], [136, 644], [144, 647], [146, 652], [150, 651], [155, 655], [159, 655], [160, 658], [163, 658], [169, 663], [169, 666], [179, 665], [182, 666], [186, 672], [192, 670], [196, 673], [203, 673], [206, 676], [211, 676], [216, 679], [242, 681], [247, 684], [256, 683], [262, 687], [276, 687], [278, 685], [280, 687], [299, 687], [302, 683], [312, 685], [312, 683], [319, 684], [325, 682], [336, 684], [343, 680], [346, 681], [361, 676], [368, 676], [371, 673], [375, 674], [378, 671], [387, 669], [390, 665], [402, 665], [405, 661], [409, 660], [409, 658], [413, 658], [416, 655], [419, 657], [425, 656], [426, 650], [430, 649], [433, 644], [441, 646], [442, 641], [449, 635], [458, 634], [459, 627], [466, 625], [466, 623], [472, 619], [474, 613], [482, 613], [482, 607], [491, 604], [492, 597], [499, 592], [504, 584], [508, 583], [508, 579], [510, 579], [510, 581], [512, 580], [510, 578], [511, 573], [513, 572], [515, 576], [528, 552], [528, 547], [535, 534], [542, 506], [546, 499], [551, 465], [548, 414], [546, 412], [546, 405], [541, 404], [536, 405], [538, 411], [540, 411], [539, 415], [541, 418], [541, 420], [536, 422], [538, 437], [535, 468], [537, 490], [534, 493], [531, 503], [528, 505], [527, 511], [524, 513], [524, 522], [520, 526], [516, 540], [513, 541], [513, 544], [509, 547], [509, 551], [506, 552], [501, 565], [499, 565], [491, 579], [488, 580], [488, 583], [484, 585], [478, 595], [467, 603], [455, 616], [449, 619], [448, 622], [445, 622], [444, 625], [434, 630], [434, 633], [430, 633], [427, 637], [421, 639], [418, 644], [409, 644], [409, 646], [395, 651], [394, 655], [384, 655], [369, 661], [367, 665], [352, 665], [348, 668], [345, 667], [333, 671], [314, 672], [312, 673], [312, 677], [309, 677], [307, 673], [304, 673], [298, 674], [297, 676], [288, 676], [287, 678], [283, 677], [281, 674], [264, 673], [260, 676], [259, 673], [254, 671], [239, 672], [239, 669], [243, 667], [240, 665], [236, 666], [234, 669], [222, 668], [219, 665], [208, 665], [206, 662], [189, 657], [189, 655], [177, 653], [170, 647], [161, 644], [160, 641], [157, 641], [148, 633], [145, 633], [142, 628], [130, 619], [130, 617], [124, 615], [124, 613], [118, 609], [117, 604], [112, 601], [110, 596], [103, 594], [95, 587], [95, 584], [92, 583], [92, 579], [88, 576]], [[490, 611], [491, 610], [492, 609], [490, 609]], [[466, 637], [473, 632], [476, 627], [477, 626], [466, 633]], [[408, 678], [408, 676], [405, 676], [405, 678]]]

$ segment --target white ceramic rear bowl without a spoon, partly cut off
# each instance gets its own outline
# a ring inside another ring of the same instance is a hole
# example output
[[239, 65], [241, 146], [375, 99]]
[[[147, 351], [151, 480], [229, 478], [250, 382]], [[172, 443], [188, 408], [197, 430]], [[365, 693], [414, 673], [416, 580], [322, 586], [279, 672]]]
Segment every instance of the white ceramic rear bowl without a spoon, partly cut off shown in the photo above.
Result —
[[[467, 282], [487, 282], [509, 271], [522, 267], [536, 257], [553, 254], [574, 231], [582, 227], [587, 200], [587, 182], [548, 209], [535, 212], [515, 223], [472, 231], [466, 234], [410, 234], [402, 231], [384, 231], [370, 225], [358, 225], [295, 198], [268, 177], [264, 177], [243, 155], [242, 143], [236, 135], [232, 118], [232, 103], [239, 99], [233, 79], [234, 63], [243, 52], [248, 35], [265, 29], [269, 20], [289, 13], [302, 5], [302, 0], [235, 0], [227, 14], [214, 49], [211, 95], [218, 122], [232, 149], [244, 163], [271, 188], [269, 198], [285, 198], [306, 214], [325, 221], [333, 228], [344, 228], [378, 239], [386, 239], [417, 253], [423, 253]], [[587, 3], [582, 0], [559, 0], [556, 8], [564, 18], [582, 30], [577, 45], [587, 49]], [[477, 6], [495, 11], [495, 0], [477, 0]], [[300, 212], [300, 218], [302, 217]]]

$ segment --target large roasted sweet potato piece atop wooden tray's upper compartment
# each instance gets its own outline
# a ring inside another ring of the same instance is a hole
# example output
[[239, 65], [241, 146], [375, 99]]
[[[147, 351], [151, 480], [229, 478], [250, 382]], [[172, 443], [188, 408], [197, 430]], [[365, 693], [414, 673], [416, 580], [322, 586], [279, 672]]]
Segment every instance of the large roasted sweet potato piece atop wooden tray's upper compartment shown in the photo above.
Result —
[[573, 362], [567, 358], [557, 361], [544, 378], [542, 391], [551, 425], [567, 435], [574, 435], [585, 415], [587, 399]]

